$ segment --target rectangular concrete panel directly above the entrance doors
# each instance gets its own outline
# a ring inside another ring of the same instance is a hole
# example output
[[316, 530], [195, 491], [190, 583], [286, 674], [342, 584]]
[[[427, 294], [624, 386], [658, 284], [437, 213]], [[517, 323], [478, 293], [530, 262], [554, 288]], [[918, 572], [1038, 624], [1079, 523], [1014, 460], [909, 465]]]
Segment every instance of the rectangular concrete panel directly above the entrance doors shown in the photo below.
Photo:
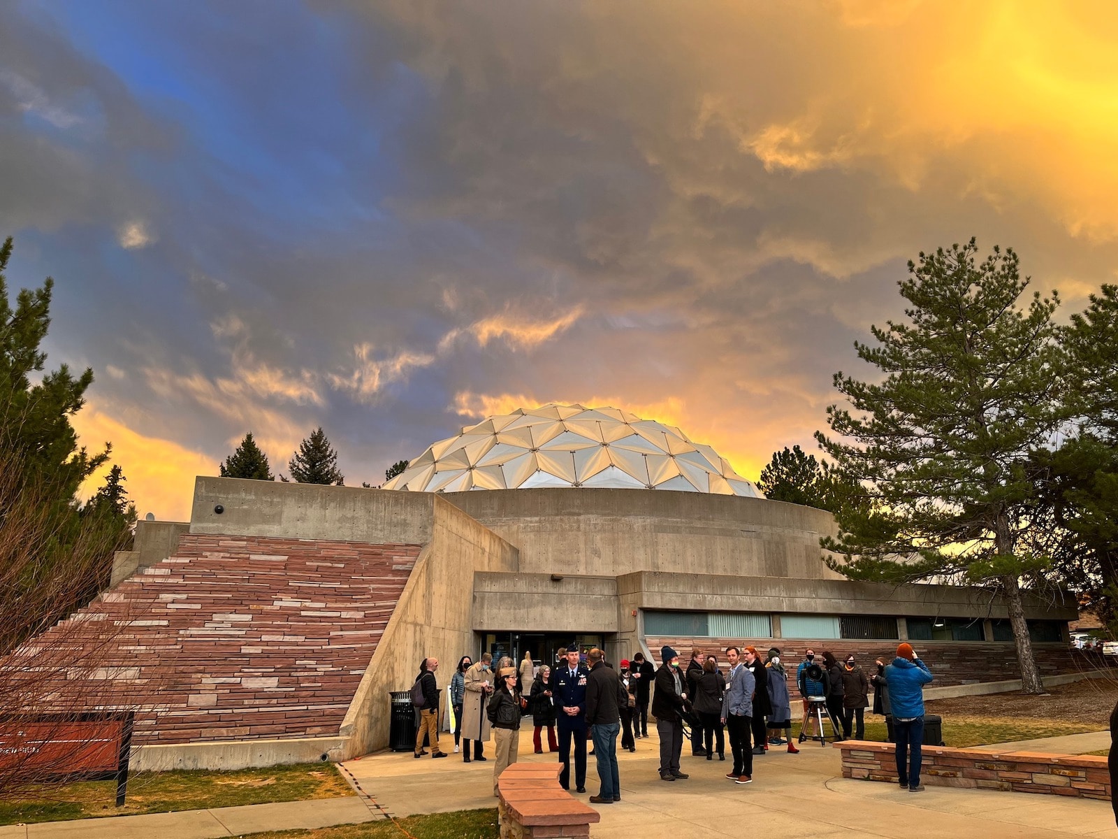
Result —
[[474, 625], [479, 632], [565, 628], [617, 631], [614, 577], [474, 573]]

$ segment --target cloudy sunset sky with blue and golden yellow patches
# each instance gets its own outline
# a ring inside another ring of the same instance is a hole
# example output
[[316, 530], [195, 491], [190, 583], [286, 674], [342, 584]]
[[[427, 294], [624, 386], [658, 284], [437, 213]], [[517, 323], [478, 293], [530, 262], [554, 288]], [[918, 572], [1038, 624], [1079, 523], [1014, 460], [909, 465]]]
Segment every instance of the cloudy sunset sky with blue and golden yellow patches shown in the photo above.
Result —
[[142, 515], [252, 431], [345, 482], [612, 405], [756, 479], [920, 251], [1118, 268], [1112, 2], [0, 2], [9, 293]]

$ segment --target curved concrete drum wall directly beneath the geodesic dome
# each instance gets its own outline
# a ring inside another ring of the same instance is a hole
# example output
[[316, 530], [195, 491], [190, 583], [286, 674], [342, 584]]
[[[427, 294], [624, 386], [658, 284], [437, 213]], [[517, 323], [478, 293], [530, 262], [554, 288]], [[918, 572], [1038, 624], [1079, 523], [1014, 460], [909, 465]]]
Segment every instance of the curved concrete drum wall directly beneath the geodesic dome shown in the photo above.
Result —
[[758, 498], [627, 489], [443, 496], [520, 548], [521, 572], [633, 571], [833, 579], [819, 559], [831, 513]]

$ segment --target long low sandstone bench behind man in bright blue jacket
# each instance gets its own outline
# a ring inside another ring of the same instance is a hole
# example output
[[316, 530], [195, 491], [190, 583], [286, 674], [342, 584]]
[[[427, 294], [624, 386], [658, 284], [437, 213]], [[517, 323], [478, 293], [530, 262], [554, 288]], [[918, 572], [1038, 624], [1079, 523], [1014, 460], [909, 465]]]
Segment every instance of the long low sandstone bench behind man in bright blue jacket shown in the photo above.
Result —
[[[892, 743], [847, 739], [834, 747], [842, 751], [843, 777], [898, 782]], [[1095, 755], [925, 746], [920, 783], [1110, 800], [1107, 758]]]

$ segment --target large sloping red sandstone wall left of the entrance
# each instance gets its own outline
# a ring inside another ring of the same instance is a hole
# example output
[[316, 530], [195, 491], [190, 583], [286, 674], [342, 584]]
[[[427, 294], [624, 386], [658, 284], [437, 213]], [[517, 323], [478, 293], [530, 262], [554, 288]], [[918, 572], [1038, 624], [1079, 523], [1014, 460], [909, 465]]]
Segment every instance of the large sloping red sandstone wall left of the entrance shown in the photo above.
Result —
[[187, 535], [75, 619], [120, 622], [103, 663], [139, 743], [337, 735], [419, 550]]

